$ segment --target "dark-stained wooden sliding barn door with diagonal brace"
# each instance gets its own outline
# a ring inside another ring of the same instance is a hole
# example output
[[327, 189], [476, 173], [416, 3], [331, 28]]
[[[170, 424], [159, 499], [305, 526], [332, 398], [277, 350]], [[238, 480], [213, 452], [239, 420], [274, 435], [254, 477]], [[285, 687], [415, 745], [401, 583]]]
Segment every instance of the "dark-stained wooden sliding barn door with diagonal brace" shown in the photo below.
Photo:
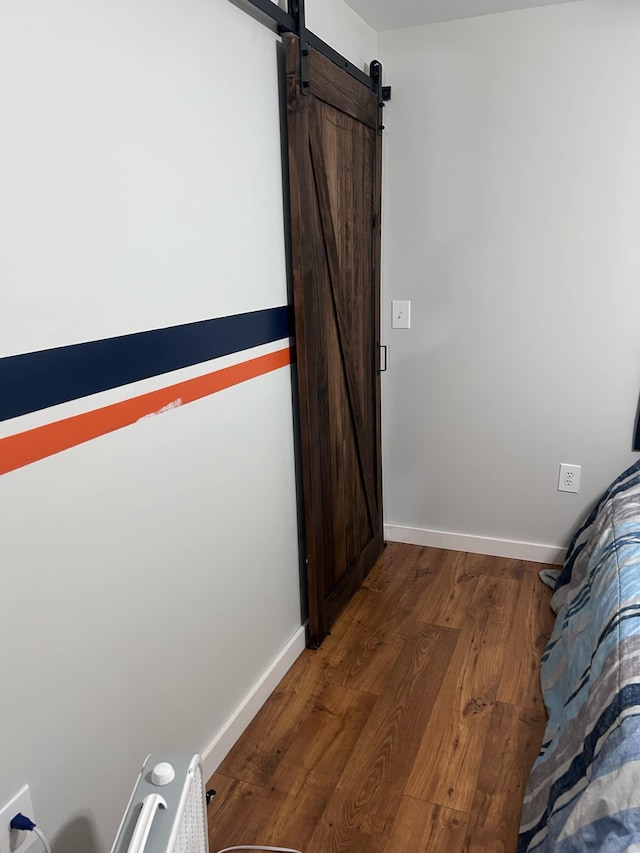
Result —
[[296, 356], [309, 590], [319, 645], [383, 547], [376, 95], [285, 39]]

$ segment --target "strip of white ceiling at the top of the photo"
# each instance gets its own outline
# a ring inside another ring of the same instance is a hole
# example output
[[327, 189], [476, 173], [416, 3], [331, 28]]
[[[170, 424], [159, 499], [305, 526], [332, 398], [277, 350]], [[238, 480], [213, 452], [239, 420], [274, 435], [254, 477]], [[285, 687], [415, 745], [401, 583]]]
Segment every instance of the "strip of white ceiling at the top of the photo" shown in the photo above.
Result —
[[346, 0], [374, 30], [417, 27], [577, 0]]

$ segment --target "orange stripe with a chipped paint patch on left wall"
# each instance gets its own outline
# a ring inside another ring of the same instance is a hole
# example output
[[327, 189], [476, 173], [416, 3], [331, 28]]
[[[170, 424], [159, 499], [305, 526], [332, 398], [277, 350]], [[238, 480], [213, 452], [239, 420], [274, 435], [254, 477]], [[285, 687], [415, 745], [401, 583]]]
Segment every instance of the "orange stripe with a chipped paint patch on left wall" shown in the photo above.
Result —
[[141, 418], [192, 403], [290, 363], [291, 348], [286, 347], [204, 376], [197, 376], [195, 379], [178, 382], [159, 391], [151, 391], [130, 400], [122, 400], [101, 409], [83, 412], [17, 435], [0, 438], [0, 475], [109, 432], [131, 426]]

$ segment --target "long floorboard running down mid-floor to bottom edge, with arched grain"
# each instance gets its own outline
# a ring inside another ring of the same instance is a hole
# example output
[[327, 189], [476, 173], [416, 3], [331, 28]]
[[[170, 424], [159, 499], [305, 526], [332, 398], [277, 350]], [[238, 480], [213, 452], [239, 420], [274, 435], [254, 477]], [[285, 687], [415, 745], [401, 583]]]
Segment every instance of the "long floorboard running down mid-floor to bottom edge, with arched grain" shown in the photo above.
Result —
[[384, 850], [457, 634], [423, 625], [406, 642], [307, 853]]

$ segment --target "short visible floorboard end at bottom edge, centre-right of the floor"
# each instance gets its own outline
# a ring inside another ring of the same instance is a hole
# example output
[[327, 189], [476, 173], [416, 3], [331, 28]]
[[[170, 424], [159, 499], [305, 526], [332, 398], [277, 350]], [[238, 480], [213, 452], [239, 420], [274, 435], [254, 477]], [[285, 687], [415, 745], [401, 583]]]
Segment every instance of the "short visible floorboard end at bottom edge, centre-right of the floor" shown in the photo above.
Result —
[[469, 815], [403, 797], [384, 853], [457, 853]]

